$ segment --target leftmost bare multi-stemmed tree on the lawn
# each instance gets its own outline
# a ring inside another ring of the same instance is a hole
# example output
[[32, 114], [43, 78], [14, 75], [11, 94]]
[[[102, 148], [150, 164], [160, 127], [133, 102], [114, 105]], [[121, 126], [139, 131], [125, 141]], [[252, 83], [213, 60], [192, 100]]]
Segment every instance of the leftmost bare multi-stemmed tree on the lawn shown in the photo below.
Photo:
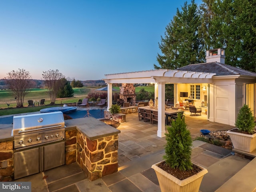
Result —
[[23, 107], [24, 97], [28, 93], [31, 85], [31, 75], [24, 69], [19, 69], [17, 71], [12, 70], [7, 75], [6, 83], [14, 92], [17, 102], [16, 107]]

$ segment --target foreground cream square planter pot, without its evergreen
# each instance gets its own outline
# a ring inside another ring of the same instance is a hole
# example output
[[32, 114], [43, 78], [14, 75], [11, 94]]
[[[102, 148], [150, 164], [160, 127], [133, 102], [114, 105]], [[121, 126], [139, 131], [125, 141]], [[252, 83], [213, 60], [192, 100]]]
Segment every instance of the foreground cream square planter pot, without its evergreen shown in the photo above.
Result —
[[156, 172], [161, 192], [198, 192], [204, 175], [208, 173], [207, 169], [196, 165], [201, 168], [202, 171], [184, 180], [179, 180], [158, 167], [162, 162], [164, 161], [158, 162], [151, 167]]

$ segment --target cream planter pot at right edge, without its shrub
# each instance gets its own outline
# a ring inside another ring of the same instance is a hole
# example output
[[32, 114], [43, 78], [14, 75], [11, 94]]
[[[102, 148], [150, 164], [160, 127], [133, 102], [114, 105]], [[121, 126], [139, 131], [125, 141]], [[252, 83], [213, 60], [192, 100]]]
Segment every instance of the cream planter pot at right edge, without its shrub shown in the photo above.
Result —
[[256, 133], [249, 135], [239, 132], [233, 132], [231, 130], [227, 131], [227, 133], [230, 136], [234, 149], [249, 153], [256, 149]]

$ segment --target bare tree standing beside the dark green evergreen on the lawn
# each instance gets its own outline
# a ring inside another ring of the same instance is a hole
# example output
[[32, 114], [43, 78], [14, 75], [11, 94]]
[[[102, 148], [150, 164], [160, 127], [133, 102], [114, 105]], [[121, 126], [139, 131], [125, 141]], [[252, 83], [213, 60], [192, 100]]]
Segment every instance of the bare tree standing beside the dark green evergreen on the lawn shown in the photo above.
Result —
[[65, 76], [62, 75], [62, 73], [59, 72], [59, 70], [48, 70], [43, 71], [43, 80], [45, 81], [45, 85], [48, 90], [48, 94], [50, 96], [51, 104], [55, 103], [56, 96], [58, 93], [58, 90], [60, 89], [60, 86], [62, 85], [62, 78], [65, 78]]

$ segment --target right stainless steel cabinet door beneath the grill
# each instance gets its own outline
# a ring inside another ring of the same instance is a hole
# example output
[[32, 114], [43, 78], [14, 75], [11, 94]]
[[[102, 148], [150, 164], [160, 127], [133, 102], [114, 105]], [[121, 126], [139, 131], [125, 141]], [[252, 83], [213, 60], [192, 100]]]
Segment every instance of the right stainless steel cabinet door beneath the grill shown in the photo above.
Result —
[[57, 142], [43, 147], [43, 170], [65, 164], [65, 142]]

